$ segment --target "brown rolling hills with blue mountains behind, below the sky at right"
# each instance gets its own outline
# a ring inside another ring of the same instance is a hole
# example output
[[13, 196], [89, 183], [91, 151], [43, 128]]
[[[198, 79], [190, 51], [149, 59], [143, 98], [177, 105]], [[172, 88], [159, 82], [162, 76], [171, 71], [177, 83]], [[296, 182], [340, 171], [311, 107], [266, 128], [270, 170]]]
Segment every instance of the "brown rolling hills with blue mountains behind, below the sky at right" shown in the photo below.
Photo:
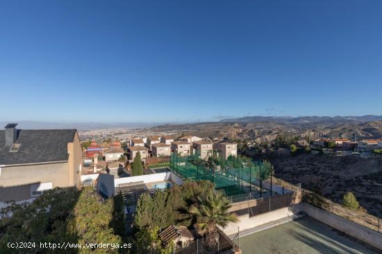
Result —
[[228, 118], [219, 122], [167, 124], [154, 131], [176, 131], [187, 135], [231, 136], [272, 140], [278, 134], [333, 136], [353, 138], [382, 138], [382, 116], [247, 116]]

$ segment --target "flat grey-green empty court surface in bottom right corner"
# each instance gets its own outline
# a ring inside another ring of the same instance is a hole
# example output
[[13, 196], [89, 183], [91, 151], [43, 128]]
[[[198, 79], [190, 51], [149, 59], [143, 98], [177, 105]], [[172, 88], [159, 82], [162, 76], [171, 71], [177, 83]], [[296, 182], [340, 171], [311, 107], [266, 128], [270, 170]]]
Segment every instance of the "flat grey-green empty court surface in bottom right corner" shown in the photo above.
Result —
[[[285, 223], [286, 222], [286, 223]], [[264, 225], [240, 233], [243, 254], [318, 254], [349, 253], [377, 254], [371, 246], [352, 239], [344, 233], [304, 217], [295, 221], [274, 221], [279, 226]], [[257, 232], [257, 233], [254, 233]]]

